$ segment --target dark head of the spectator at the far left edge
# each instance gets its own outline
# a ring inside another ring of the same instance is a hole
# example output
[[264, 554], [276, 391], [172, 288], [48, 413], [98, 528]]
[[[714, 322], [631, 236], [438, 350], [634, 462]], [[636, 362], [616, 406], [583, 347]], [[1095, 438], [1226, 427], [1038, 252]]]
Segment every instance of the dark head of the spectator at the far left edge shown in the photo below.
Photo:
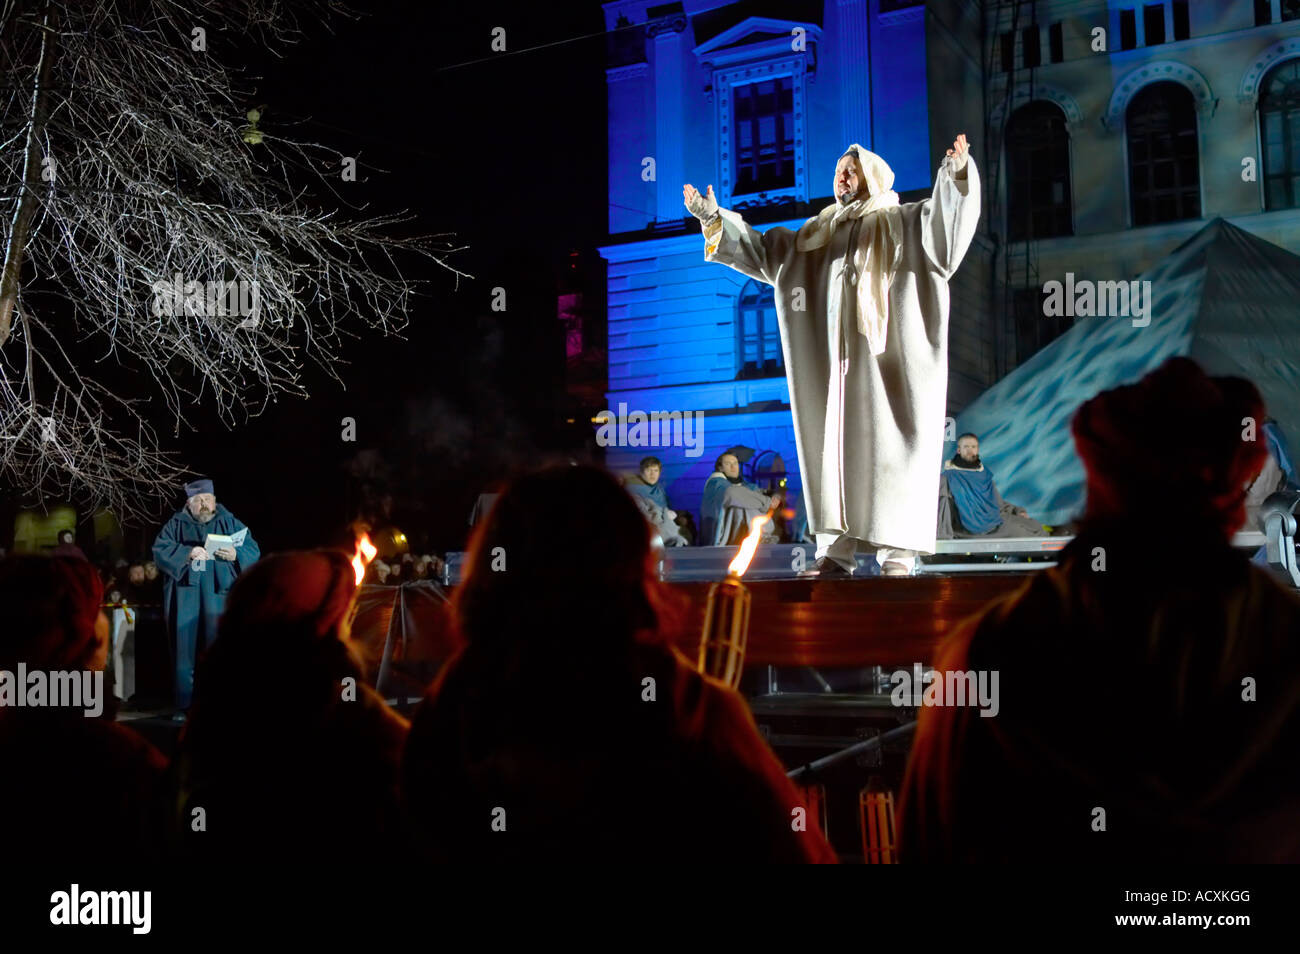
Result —
[[0, 669], [103, 669], [108, 660], [104, 587], [86, 560], [10, 556], [0, 561]]

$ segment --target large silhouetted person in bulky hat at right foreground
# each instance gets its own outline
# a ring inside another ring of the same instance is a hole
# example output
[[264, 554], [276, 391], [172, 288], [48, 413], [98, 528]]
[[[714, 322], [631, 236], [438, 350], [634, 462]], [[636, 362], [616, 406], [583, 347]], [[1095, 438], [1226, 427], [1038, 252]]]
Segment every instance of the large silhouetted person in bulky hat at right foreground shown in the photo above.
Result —
[[1079, 533], [941, 646], [998, 711], [922, 708], [904, 862], [1300, 862], [1300, 598], [1230, 545], [1264, 419], [1184, 357], [1079, 408]]

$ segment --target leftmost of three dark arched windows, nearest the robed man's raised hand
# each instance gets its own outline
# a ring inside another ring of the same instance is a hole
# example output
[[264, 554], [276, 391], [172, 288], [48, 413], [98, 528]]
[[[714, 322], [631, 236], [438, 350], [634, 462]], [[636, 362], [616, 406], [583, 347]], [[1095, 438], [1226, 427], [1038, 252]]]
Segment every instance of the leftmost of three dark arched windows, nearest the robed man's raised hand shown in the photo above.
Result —
[[1027, 103], [1006, 123], [1006, 230], [1011, 242], [1074, 235], [1070, 134], [1056, 103]]

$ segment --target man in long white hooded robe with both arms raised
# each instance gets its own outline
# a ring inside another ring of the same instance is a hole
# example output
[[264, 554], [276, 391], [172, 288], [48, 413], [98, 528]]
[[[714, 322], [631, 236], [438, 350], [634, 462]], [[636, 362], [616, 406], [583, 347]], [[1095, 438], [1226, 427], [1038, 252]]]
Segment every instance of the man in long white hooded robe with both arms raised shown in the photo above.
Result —
[[[935, 551], [948, 396], [948, 279], [980, 212], [965, 135], [924, 201], [861, 146], [836, 165], [835, 205], [798, 231], [759, 233], [686, 185], [705, 257], [776, 289], [794, 438], [818, 568], [850, 574], [859, 543], [887, 576]], [[849, 255], [850, 248], [853, 255]]]

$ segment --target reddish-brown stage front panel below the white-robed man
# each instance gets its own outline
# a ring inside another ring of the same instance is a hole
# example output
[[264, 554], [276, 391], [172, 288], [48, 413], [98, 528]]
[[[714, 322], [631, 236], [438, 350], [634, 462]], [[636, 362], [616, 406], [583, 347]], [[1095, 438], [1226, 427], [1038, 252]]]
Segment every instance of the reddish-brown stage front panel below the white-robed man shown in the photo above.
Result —
[[[930, 663], [935, 646], [953, 626], [1014, 593], [1037, 572], [746, 582], [750, 612], [745, 665]], [[712, 584], [668, 585], [692, 602], [692, 625], [679, 647], [694, 659]]]

